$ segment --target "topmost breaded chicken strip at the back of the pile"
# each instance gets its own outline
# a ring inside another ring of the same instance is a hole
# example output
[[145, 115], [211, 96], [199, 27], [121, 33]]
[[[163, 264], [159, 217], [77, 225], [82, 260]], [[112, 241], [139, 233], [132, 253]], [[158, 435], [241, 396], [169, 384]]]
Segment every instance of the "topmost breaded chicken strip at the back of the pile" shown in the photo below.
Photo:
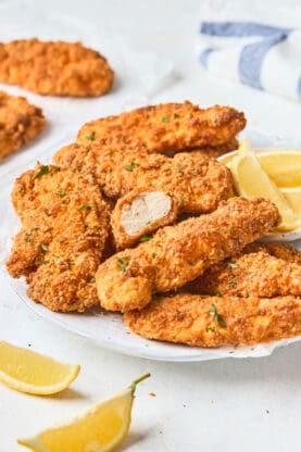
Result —
[[193, 148], [221, 147], [234, 140], [246, 126], [243, 113], [231, 106], [200, 109], [184, 103], [143, 106], [116, 116], [85, 124], [77, 141], [120, 139], [146, 147], [149, 152], [181, 151]]

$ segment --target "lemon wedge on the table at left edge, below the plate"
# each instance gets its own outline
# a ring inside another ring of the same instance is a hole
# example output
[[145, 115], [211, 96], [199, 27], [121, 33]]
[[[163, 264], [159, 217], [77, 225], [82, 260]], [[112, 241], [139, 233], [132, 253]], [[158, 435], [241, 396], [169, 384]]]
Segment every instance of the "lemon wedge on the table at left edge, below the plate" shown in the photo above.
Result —
[[54, 394], [67, 388], [80, 366], [61, 364], [51, 357], [0, 341], [0, 380], [21, 392]]

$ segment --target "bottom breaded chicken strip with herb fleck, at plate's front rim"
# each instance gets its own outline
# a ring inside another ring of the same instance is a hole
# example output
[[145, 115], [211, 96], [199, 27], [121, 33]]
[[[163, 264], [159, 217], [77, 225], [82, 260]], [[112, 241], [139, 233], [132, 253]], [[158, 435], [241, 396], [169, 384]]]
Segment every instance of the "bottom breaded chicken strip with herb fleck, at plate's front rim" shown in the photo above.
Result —
[[149, 339], [197, 347], [269, 342], [301, 334], [301, 298], [236, 298], [179, 293], [153, 300], [125, 323]]

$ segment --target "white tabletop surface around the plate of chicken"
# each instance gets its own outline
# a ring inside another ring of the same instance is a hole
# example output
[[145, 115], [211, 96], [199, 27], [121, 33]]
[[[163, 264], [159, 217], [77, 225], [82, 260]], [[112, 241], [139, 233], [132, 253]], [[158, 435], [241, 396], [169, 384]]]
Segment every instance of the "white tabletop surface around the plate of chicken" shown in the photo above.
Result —
[[[26, 93], [43, 106], [50, 126], [43, 140], [1, 167], [1, 192], [20, 172], [16, 159], [25, 167], [43, 149], [49, 153], [53, 140], [61, 143], [75, 135], [87, 118], [143, 103], [146, 99], [230, 103], [246, 112], [250, 128], [275, 137], [288, 136], [288, 141], [297, 142], [300, 104], [213, 79], [199, 67], [193, 53], [198, 11], [196, 0], [0, 0], [0, 40], [38, 34], [99, 42], [99, 49], [114, 56], [121, 74], [115, 91], [103, 99], [68, 101]], [[127, 46], [135, 49], [134, 61], [127, 59]], [[140, 58], [150, 52], [165, 63], [171, 61], [178, 75], [171, 86], [163, 84], [156, 92], [150, 92], [148, 80], [140, 79], [141, 66], [153, 64], [148, 58], [140, 64]], [[25, 93], [11, 87], [7, 90]], [[1, 204], [0, 218], [5, 218]], [[21, 452], [24, 449], [16, 445], [17, 437], [68, 419], [143, 372], [151, 372], [152, 377], [137, 391], [133, 427], [121, 450], [300, 451], [300, 343], [264, 359], [156, 363], [102, 350], [47, 323], [16, 298], [3, 273], [0, 288], [2, 339], [23, 347], [30, 344], [32, 349], [83, 367], [72, 389], [55, 398], [29, 397], [0, 386], [0, 452]], [[150, 397], [151, 391], [156, 397]]]

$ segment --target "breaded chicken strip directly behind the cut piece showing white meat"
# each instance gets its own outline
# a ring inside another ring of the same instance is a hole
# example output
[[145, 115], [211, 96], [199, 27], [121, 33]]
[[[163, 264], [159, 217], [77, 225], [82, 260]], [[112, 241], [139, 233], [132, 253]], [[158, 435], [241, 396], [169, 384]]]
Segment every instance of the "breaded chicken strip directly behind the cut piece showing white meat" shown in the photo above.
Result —
[[147, 154], [131, 148], [121, 154], [105, 145], [70, 145], [54, 155], [54, 162], [74, 172], [95, 174], [109, 198], [121, 198], [134, 189], [164, 191], [181, 212], [201, 213], [216, 209], [233, 196], [229, 170], [214, 159], [183, 152], [173, 159]]

